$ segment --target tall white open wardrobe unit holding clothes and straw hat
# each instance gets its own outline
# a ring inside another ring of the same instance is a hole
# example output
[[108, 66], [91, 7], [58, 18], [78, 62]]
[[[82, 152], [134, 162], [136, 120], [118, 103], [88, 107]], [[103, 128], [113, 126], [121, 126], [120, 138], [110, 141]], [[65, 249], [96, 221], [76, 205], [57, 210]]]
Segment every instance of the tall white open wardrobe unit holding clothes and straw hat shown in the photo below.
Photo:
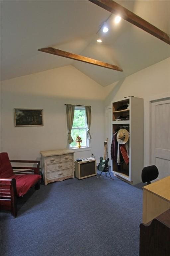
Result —
[[[125, 104], [129, 104], [129, 108], [122, 110], [121, 106]], [[112, 102], [112, 109], [112, 134], [121, 128], [129, 131], [129, 164], [123, 163], [118, 168], [117, 162], [113, 161], [112, 172], [115, 176], [135, 185], [141, 182], [143, 169], [143, 99], [127, 97]], [[115, 121], [120, 116], [129, 116], [129, 120]]]

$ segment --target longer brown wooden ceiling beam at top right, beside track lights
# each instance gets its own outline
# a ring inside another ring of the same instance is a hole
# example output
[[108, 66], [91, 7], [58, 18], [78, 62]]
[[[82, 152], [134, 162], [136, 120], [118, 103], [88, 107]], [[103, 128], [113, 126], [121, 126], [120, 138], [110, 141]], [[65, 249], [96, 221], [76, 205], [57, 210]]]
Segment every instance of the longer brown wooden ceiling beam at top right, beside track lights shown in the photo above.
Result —
[[[163, 32], [162, 30], [158, 29], [157, 27], [153, 26], [146, 20], [142, 19], [141, 17], [137, 16], [133, 12], [129, 11], [122, 5], [116, 3], [115, 1], [94, 1], [89, 0], [90, 2], [102, 7], [103, 9], [112, 12], [116, 15], [120, 15], [122, 19], [127, 20], [131, 24], [137, 26], [138, 28], [143, 29], [144, 31], [148, 32], [149, 34], [159, 38], [160, 40], [164, 41], [167, 44], [170, 44], [170, 38], [168, 34]], [[159, 17], [159, 19], [161, 19]]]

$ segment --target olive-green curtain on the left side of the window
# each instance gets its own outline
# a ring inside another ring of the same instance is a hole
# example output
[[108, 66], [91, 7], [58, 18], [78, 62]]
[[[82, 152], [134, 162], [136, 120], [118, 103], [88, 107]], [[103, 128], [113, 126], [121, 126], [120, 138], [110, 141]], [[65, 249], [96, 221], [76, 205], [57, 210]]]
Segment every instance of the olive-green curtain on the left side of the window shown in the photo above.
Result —
[[74, 120], [74, 107], [75, 107], [75, 105], [71, 105], [71, 104], [66, 105], [67, 128], [68, 128], [68, 140], [67, 140], [67, 142], [69, 144], [74, 141], [73, 138], [71, 137], [71, 129], [72, 129], [73, 120]]

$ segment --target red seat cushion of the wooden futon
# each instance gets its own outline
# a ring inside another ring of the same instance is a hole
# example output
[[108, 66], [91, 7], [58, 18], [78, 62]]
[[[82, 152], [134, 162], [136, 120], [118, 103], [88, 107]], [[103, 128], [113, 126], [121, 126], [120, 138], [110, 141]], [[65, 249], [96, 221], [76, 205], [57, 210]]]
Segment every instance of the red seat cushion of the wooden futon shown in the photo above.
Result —
[[21, 174], [21, 175], [13, 175], [10, 177], [11, 179], [16, 179], [17, 185], [17, 195], [23, 196], [27, 193], [27, 191], [33, 187], [39, 179], [41, 179], [41, 175], [39, 174]]

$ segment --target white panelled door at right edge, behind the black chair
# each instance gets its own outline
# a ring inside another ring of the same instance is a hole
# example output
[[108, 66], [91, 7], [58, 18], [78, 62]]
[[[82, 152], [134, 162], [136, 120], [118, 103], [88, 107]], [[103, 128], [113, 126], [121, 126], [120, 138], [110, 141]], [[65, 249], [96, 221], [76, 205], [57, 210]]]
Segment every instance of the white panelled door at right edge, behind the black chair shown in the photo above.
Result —
[[151, 164], [159, 179], [170, 175], [170, 100], [151, 103]]

